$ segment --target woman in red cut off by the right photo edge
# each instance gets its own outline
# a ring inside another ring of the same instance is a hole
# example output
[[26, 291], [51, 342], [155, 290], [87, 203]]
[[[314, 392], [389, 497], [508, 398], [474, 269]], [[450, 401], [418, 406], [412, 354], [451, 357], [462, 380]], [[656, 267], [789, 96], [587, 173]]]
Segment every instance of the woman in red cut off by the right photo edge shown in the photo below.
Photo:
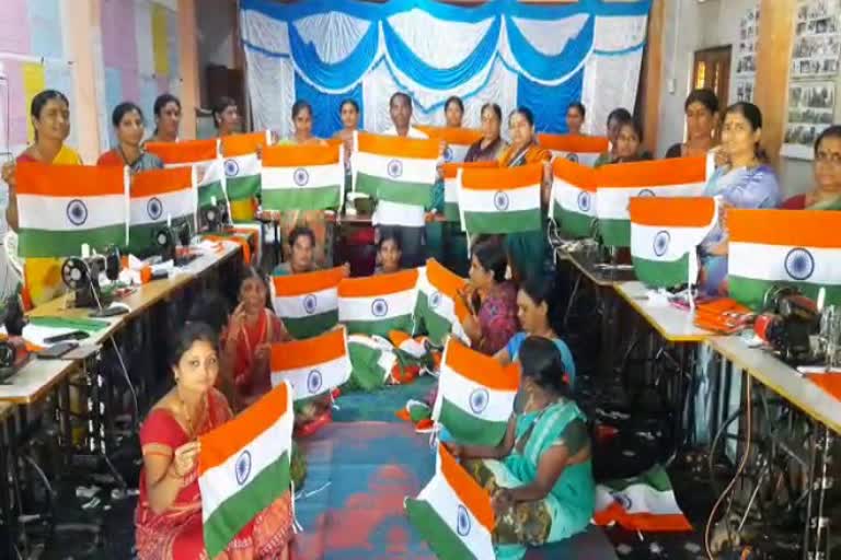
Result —
[[841, 126], [823, 130], [815, 141], [817, 187], [783, 202], [786, 210], [841, 210]]

